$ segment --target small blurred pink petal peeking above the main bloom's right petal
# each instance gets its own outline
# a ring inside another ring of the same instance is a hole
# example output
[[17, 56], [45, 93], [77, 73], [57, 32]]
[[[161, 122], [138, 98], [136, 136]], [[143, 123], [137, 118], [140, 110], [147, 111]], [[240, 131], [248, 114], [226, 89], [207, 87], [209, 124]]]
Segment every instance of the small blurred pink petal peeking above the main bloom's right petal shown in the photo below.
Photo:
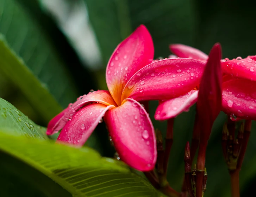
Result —
[[200, 60], [202, 62], [206, 62], [208, 59], [208, 55], [206, 55], [205, 53], [201, 52], [196, 48], [189, 47], [186, 45], [173, 44], [170, 45], [170, 50], [178, 57], [192, 58]]

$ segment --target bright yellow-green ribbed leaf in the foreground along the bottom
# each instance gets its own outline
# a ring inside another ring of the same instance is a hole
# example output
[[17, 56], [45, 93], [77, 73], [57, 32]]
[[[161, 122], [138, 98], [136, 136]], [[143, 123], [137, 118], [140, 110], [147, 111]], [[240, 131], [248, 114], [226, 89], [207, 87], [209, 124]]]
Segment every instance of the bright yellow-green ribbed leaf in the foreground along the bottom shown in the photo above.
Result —
[[0, 149], [50, 177], [76, 197], [158, 196], [149, 182], [133, 174], [124, 163], [103, 158], [90, 148], [77, 149], [0, 133]]

